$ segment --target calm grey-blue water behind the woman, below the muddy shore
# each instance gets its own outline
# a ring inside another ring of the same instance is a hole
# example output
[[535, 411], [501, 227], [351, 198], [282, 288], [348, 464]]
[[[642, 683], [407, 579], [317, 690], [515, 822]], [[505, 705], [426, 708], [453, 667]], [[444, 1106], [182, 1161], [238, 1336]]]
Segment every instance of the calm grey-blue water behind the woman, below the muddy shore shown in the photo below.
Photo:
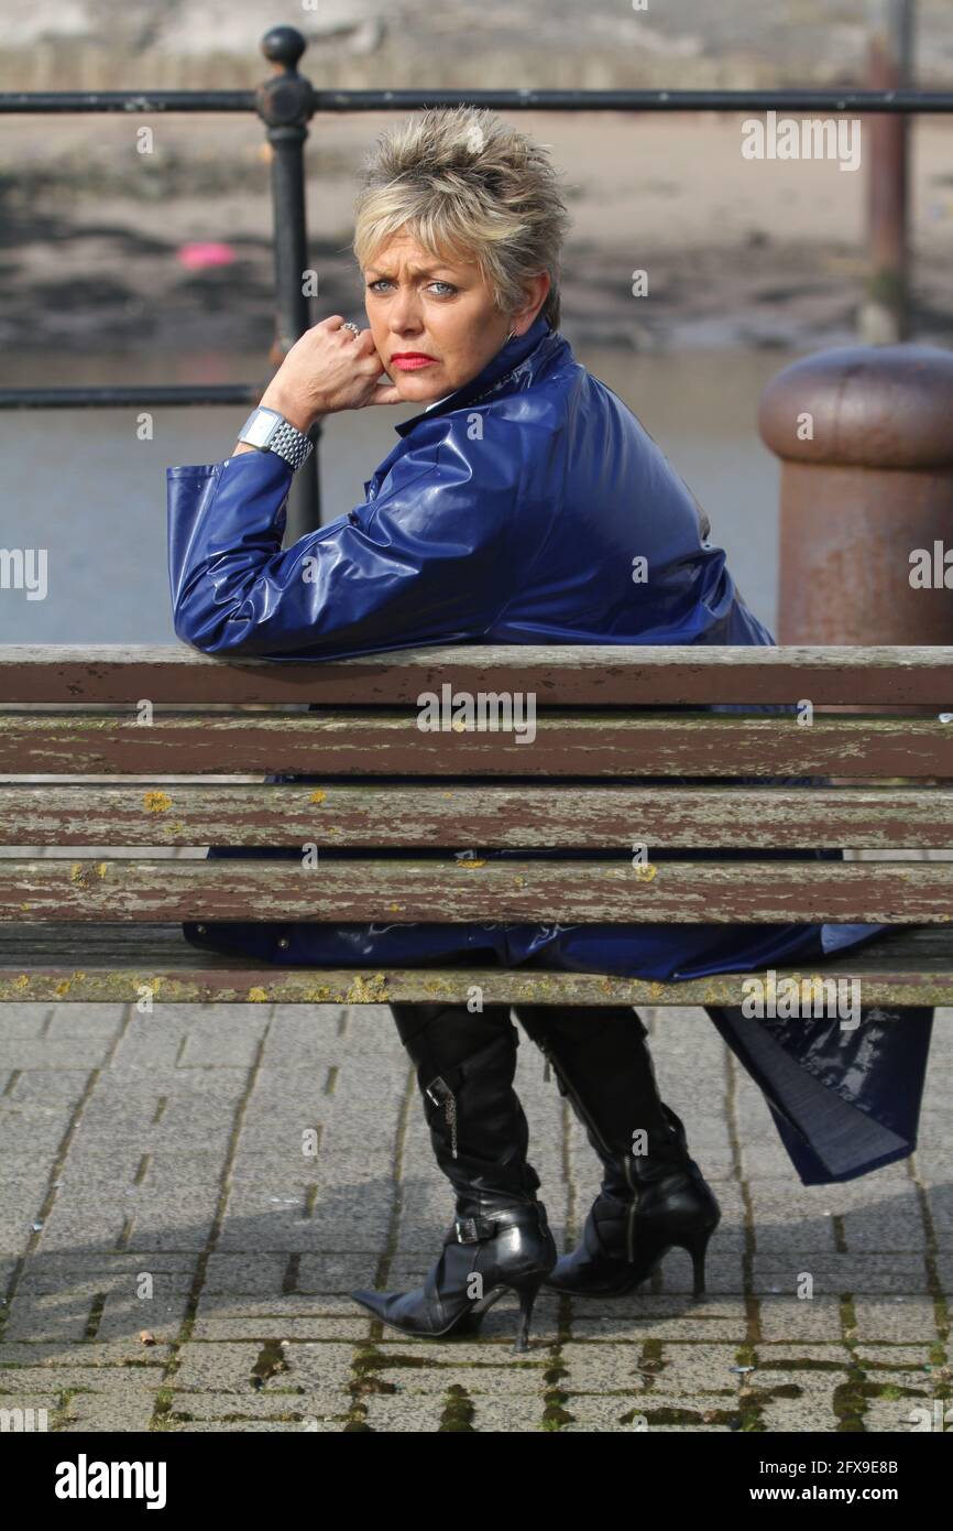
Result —
[[[757, 401], [792, 357], [772, 352], [577, 355], [636, 412], [691, 487], [711, 540], [751, 609], [776, 625], [777, 462], [762, 446]], [[255, 381], [260, 352], [135, 358], [6, 355], [0, 386]], [[321, 438], [324, 521], [364, 501], [364, 479], [387, 456], [410, 406], [330, 416]], [[0, 412], [0, 548], [46, 548], [47, 594], [0, 588], [0, 643], [174, 643], [165, 468], [229, 456], [240, 406], [161, 409], [139, 441], [136, 409]]]

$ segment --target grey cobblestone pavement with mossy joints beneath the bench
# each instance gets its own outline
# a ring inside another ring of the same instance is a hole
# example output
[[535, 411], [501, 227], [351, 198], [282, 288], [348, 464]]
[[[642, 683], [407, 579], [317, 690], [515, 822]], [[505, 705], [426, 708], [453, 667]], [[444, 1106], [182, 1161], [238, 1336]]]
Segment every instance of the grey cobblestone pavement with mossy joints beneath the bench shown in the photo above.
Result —
[[[912, 1430], [951, 1393], [953, 1010], [918, 1153], [834, 1187], [800, 1185], [702, 1010], [641, 1014], [722, 1205], [708, 1297], [673, 1251], [630, 1298], [540, 1294], [516, 1356], [514, 1298], [441, 1343], [347, 1295], [418, 1285], [451, 1216], [387, 1009], [5, 1006], [0, 1409], [66, 1433]], [[566, 1248], [597, 1162], [523, 1032], [517, 1085]]]

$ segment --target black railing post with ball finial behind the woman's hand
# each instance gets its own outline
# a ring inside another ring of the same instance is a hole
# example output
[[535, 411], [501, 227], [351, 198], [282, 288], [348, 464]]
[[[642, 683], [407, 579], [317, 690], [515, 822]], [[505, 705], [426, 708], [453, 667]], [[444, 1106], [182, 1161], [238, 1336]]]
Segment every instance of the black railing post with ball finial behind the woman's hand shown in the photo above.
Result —
[[[304, 220], [304, 139], [314, 110], [311, 81], [298, 73], [298, 58], [307, 43], [294, 26], [272, 26], [262, 38], [262, 52], [275, 64], [271, 80], [255, 90], [259, 116], [268, 127], [272, 147], [271, 204], [275, 250], [277, 323], [271, 361], [281, 360], [311, 328], [304, 273], [307, 268], [307, 228]], [[318, 479], [318, 447], [321, 427], [317, 426], [315, 449], [298, 468], [288, 496], [285, 545], [289, 547], [321, 525], [321, 491]]]

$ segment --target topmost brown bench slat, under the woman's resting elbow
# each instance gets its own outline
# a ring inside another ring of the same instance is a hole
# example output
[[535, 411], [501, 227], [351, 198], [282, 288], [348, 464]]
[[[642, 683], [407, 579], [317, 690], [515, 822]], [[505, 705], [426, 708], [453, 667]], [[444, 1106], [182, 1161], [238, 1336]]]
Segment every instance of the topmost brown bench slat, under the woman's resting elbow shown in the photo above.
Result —
[[0, 646], [0, 703], [416, 703], [444, 681], [551, 704], [800, 701], [953, 704], [953, 648], [447, 645], [352, 660], [199, 654], [187, 645]]

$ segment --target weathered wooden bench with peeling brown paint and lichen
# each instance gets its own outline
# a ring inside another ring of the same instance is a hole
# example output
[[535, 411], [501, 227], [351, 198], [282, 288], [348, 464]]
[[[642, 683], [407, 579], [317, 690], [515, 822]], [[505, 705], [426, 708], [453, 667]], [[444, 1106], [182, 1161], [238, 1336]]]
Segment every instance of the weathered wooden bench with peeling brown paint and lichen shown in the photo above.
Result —
[[[534, 741], [422, 730], [418, 698], [445, 684], [535, 695]], [[809, 975], [860, 978], [870, 1004], [953, 1004], [953, 863], [922, 859], [953, 848], [953, 723], [941, 720], [951, 697], [947, 648], [467, 645], [332, 663], [225, 661], [179, 645], [5, 648], [0, 1000], [384, 1004], [462, 1000], [479, 983], [485, 1003], [742, 1001], [743, 974], [655, 983], [531, 968], [281, 968], [207, 955], [179, 928], [387, 914], [884, 922], [896, 931]], [[817, 709], [809, 726], [791, 712], [699, 710], [805, 698]], [[263, 781], [281, 773], [318, 785]], [[644, 776], [661, 781], [639, 785]], [[682, 784], [751, 776], [832, 784]], [[636, 841], [649, 873], [598, 860]], [[213, 844], [389, 854], [301, 876], [288, 860], [207, 860]], [[467, 865], [450, 854], [470, 845], [575, 859]], [[898, 859], [820, 860], [803, 877], [769, 860], [652, 862], [656, 851], [794, 847]], [[448, 854], [428, 860], [422, 848]]]

